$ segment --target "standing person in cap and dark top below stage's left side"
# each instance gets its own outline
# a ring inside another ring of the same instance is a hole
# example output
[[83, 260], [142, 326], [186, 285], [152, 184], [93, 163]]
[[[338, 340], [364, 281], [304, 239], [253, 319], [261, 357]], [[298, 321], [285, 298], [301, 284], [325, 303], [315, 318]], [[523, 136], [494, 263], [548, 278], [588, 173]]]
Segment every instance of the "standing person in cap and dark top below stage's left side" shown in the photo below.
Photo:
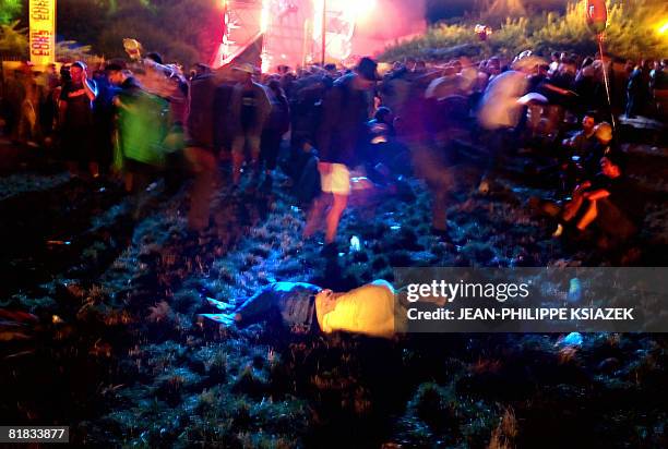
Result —
[[251, 155], [253, 169], [259, 169], [260, 138], [272, 105], [264, 87], [253, 81], [252, 64], [244, 62], [234, 71], [238, 83], [230, 98], [232, 184], [239, 185], [246, 149]]

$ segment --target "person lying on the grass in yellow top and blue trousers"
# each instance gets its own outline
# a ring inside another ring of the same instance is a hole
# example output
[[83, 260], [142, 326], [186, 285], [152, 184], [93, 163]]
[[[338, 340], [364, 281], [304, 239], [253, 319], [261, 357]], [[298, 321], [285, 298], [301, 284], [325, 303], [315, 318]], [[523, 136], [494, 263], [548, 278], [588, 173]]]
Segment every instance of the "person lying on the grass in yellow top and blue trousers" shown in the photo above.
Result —
[[274, 282], [238, 307], [208, 301], [224, 313], [201, 316], [225, 326], [278, 320], [294, 333], [345, 331], [383, 338], [391, 338], [397, 327], [394, 289], [384, 280], [345, 293], [306, 282]]

